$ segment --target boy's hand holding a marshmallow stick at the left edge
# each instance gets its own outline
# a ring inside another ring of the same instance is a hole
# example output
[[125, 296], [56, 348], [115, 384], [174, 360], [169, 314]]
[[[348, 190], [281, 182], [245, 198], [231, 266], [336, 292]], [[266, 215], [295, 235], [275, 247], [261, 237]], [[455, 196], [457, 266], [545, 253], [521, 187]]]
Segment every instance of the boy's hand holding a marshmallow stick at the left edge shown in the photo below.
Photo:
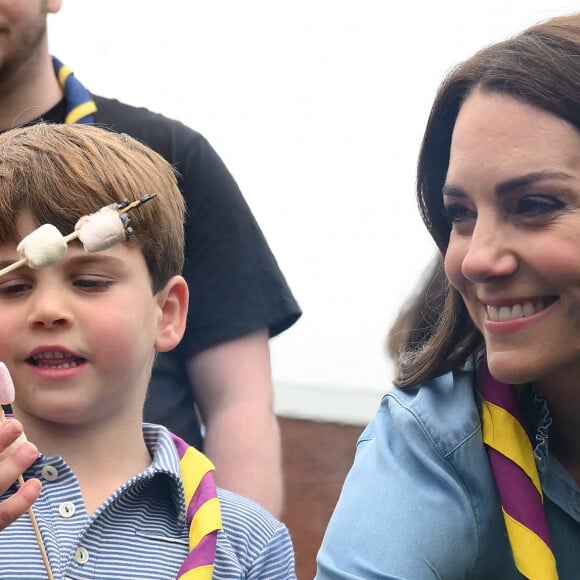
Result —
[[[0, 493], [4, 493], [38, 457], [38, 449], [30, 442], [19, 445], [4, 456], [4, 451], [22, 434], [22, 424], [16, 419], [0, 423]], [[29, 479], [9, 499], [0, 503], [0, 530], [18, 519], [40, 495], [42, 484]]]

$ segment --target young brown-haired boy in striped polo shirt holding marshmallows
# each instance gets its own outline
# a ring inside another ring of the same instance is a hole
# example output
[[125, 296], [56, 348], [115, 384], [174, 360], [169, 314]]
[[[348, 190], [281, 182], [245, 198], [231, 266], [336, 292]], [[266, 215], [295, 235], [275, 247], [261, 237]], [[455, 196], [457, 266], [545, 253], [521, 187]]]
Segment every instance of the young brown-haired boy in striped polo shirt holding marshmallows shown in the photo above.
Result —
[[[187, 314], [184, 205], [171, 167], [96, 127], [1, 135], [0, 267], [43, 223], [68, 234], [79, 217], [149, 193], [157, 197], [129, 214], [128, 241], [95, 253], [73, 241], [54, 266], [0, 277], [0, 360], [14, 415], [40, 450], [34, 460], [26, 444], [0, 463], [0, 578], [48, 577], [29, 514], [9, 524], [36, 498], [35, 480], [54, 578], [295, 578], [283, 524], [216, 491], [203, 455], [142, 423], [155, 353], [177, 346]], [[0, 426], [0, 449], [18, 430]], [[33, 460], [25, 486], [8, 488]]]

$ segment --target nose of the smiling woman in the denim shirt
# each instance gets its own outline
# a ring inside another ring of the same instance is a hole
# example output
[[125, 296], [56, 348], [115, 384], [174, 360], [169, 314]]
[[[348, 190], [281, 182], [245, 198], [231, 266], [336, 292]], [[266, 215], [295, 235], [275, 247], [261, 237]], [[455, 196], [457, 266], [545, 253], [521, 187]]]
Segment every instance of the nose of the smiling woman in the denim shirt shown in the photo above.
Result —
[[485, 282], [510, 276], [517, 269], [517, 252], [507, 226], [478, 220], [463, 257], [462, 274], [472, 282]]

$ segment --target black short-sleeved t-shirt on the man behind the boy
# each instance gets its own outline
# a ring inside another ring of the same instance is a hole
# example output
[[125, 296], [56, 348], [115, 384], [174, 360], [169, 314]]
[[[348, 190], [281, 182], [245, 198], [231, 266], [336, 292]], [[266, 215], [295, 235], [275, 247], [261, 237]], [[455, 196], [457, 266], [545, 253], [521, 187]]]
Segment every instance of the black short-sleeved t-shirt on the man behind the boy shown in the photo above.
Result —
[[[236, 182], [206, 139], [147, 109], [93, 98], [97, 125], [145, 143], [179, 174], [188, 211], [183, 270], [190, 291], [188, 323], [180, 345], [158, 354], [144, 420], [166, 425], [201, 448], [188, 359], [261, 328], [275, 336], [299, 318], [300, 308]], [[61, 101], [42, 120], [62, 123], [64, 117]]]

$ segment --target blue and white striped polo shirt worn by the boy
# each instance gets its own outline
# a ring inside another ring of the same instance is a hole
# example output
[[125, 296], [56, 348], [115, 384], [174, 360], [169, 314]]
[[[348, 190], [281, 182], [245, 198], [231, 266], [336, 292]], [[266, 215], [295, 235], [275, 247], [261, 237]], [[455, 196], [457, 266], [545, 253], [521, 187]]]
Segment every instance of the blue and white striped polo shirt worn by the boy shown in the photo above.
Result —
[[[43, 491], [34, 505], [55, 579], [168, 580], [188, 554], [179, 458], [169, 432], [143, 427], [153, 462], [90, 517], [78, 481], [59, 456], [41, 456], [25, 474]], [[14, 488], [0, 496], [6, 499]], [[262, 507], [218, 490], [223, 529], [214, 579], [295, 579], [286, 527]], [[46, 571], [27, 514], [0, 533], [0, 578], [37, 580]]]

